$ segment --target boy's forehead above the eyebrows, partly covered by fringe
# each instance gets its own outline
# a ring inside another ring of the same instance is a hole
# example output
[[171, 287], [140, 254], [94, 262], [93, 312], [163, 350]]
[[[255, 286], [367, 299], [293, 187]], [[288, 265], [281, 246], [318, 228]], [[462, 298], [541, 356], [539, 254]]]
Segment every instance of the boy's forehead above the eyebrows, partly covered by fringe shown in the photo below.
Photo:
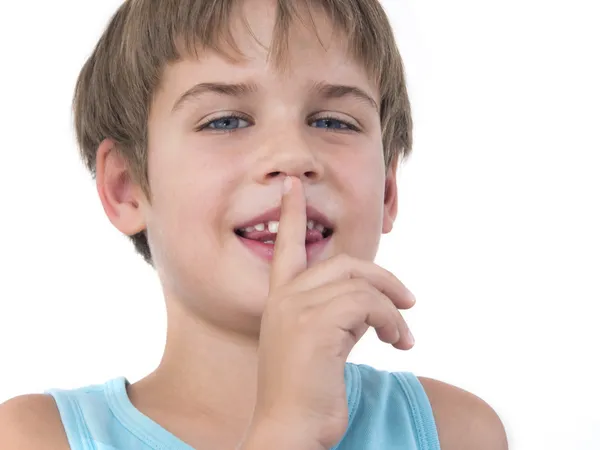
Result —
[[277, 77], [280, 81], [315, 78], [317, 82], [360, 83], [375, 94], [375, 77], [352, 53], [342, 27], [332, 22], [322, 6], [297, 4], [303, 6], [286, 15], [276, 1], [240, 2], [227, 21], [215, 25], [223, 29], [211, 31], [221, 37], [212, 48], [199, 45], [197, 36], [183, 37], [178, 45], [181, 57], [165, 68], [162, 87], [183, 88], [194, 77], [241, 82], [262, 76], [265, 82]]

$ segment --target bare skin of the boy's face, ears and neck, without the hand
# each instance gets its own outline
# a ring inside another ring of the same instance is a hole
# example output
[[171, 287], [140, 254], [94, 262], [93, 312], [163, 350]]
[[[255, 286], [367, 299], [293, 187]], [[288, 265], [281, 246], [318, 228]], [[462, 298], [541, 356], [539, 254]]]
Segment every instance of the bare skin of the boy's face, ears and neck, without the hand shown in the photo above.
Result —
[[[243, 13], [258, 39], [269, 43], [273, 5], [248, 1]], [[180, 435], [186, 423], [206, 424], [199, 434], [227, 429], [241, 435], [252, 415], [269, 264], [243, 247], [233, 229], [280, 205], [286, 175], [303, 182], [307, 203], [335, 225], [330, 244], [309, 266], [340, 253], [372, 261], [381, 234], [392, 230], [396, 164], [386, 171], [377, 109], [310, 89], [315, 82], [351, 85], [378, 100], [377, 86], [323, 16], [316, 18], [325, 45], [294, 25], [288, 71], [267, 61], [239, 21], [234, 36], [247, 61], [206, 53], [166, 68], [148, 124], [151, 204], [114, 143], [106, 140], [98, 149], [102, 205], [121, 232], [147, 230], [167, 305], [163, 359], [129, 395]], [[238, 98], [203, 94], [173, 113], [177, 99], [199, 82], [252, 82], [258, 90]], [[249, 116], [250, 126], [242, 122], [232, 133], [197, 130], [232, 112]], [[344, 129], [319, 122], [329, 116], [336, 119], [330, 125]]]

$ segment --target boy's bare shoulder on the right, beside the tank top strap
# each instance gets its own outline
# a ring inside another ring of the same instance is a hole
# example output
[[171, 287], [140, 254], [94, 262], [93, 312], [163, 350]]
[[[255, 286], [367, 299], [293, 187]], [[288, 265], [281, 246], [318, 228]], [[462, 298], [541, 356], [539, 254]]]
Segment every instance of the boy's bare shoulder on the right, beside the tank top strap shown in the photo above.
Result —
[[418, 379], [431, 403], [442, 450], [508, 450], [504, 425], [485, 401], [438, 380]]

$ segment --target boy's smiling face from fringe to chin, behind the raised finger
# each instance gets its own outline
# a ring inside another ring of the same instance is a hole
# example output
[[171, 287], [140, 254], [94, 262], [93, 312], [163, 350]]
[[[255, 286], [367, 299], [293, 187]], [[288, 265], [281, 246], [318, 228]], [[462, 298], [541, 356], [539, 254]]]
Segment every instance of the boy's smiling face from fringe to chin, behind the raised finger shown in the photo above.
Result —
[[[267, 44], [275, 21], [268, 3], [244, 4], [252, 30]], [[386, 177], [379, 92], [340, 45], [344, 38], [314, 15], [327, 50], [310, 28], [294, 24], [289, 70], [281, 72], [234, 21], [234, 37], [249, 60], [232, 63], [208, 53], [173, 64], [152, 105], [153, 199], [141, 213], [155, 265], [168, 297], [214, 320], [262, 313], [268, 244], [247, 242], [238, 228], [279, 207], [286, 175], [303, 181], [308, 206], [333, 229], [326, 243], [309, 250], [309, 265], [339, 253], [373, 260], [381, 233], [391, 230], [395, 170]], [[205, 86], [178, 104], [202, 83], [245, 88]], [[339, 88], [327, 95], [327, 85], [360, 92]]]

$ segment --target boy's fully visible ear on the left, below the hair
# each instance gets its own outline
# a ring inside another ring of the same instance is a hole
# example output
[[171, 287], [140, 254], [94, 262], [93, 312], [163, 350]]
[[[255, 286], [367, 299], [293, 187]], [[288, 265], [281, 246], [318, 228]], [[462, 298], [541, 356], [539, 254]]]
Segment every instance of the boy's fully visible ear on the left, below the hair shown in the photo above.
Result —
[[104, 212], [119, 231], [132, 236], [146, 228], [145, 196], [111, 139], [102, 141], [96, 152], [96, 189]]

